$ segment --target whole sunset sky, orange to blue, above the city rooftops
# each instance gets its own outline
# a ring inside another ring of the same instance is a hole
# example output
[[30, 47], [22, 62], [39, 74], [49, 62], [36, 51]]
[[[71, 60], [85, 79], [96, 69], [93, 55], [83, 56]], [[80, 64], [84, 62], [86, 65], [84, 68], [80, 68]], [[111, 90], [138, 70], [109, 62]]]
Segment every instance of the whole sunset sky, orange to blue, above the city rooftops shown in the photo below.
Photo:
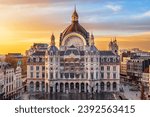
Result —
[[52, 33], [58, 45], [75, 5], [99, 49], [116, 36], [120, 49], [150, 50], [150, 0], [0, 0], [0, 54], [24, 54], [34, 42], [50, 43]]

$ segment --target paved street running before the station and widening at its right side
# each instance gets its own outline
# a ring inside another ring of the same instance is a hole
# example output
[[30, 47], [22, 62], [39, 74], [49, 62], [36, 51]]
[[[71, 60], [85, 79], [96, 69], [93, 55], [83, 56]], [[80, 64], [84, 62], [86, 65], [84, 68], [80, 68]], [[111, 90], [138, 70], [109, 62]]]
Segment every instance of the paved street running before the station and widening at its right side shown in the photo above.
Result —
[[122, 83], [123, 91], [118, 93], [100, 92], [100, 93], [24, 93], [22, 100], [140, 100], [141, 92], [135, 85]]

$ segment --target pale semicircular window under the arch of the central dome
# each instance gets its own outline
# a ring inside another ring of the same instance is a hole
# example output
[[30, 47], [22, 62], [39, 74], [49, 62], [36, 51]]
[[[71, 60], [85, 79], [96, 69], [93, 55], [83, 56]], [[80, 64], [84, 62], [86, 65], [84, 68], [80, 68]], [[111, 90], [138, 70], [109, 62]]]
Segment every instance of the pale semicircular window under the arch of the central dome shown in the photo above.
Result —
[[84, 46], [84, 43], [80, 37], [71, 36], [65, 41], [66, 46]]

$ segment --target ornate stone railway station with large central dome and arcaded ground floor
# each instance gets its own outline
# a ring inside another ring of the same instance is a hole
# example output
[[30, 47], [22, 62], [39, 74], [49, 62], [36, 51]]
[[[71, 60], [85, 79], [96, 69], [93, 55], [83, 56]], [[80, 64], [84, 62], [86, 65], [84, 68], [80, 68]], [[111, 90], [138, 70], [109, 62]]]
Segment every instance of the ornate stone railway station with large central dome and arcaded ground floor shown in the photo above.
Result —
[[50, 44], [35, 43], [28, 51], [29, 92], [116, 92], [120, 85], [120, 58], [116, 39], [109, 50], [98, 50], [94, 36], [78, 21], [74, 10], [71, 24], [60, 34], [59, 48], [52, 34]]

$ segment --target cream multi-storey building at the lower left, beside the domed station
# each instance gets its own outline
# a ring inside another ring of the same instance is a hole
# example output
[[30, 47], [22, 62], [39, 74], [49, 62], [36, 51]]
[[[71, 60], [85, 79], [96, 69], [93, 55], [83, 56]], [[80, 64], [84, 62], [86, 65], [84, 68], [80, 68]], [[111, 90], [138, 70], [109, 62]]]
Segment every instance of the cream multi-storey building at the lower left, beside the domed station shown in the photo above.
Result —
[[0, 79], [2, 79], [4, 92], [3, 99], [18, 99], [22, 96], [22, 74], [21, 68], [12, 68], [9, 63], [0, 63]]

